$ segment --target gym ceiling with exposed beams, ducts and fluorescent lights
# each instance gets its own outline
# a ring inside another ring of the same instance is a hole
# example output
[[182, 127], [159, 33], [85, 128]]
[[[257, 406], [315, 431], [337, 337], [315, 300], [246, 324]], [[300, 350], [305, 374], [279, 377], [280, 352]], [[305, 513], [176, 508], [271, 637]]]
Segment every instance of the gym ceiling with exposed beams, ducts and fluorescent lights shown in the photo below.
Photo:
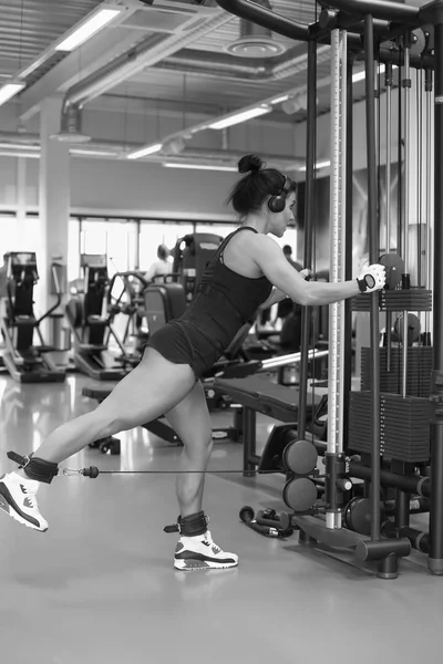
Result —
[[[316, 21], [315, 0], [270, 2], [287, 19], [302, 24]], [[99, 6], [122, 12], [72, 53], [54, 51], [56, 40]], [[25, 82], [20, 95], [9, 102], [24, 123], [39, 112], [43, 98], [54, 94], [64, 95], [65, 108], [80, 114], [87, 108], [104, 114], [119, 107], [138, 108], [138, 113], [142, 108], [146, 114], [181, 113], [182, 128], [188, 128], [195, 125], [194, 116], [202, 124], [202, 118], [215, 120], [290, 93], [289, 101], [296, 100], [291, 107], [276, 103], [271, 113], [251, 122], [293, 126], [306, 117], [307, 45], [274, 33], [270, 43], [281, 51], [277, 55], [230, 54], [227, 46], [239, 39], [240, 29], [253, 33], [258, 29], [240, 24], [215, 0], [204, 4], [193, 0], [0, 0], [0, 84], [18, 77]], [[328, 46], [320, 49], [318, 104], [319, 113], [324, 113], [329, 110], [330, 55]], [[362, 93], [362, 87], [357, 90], [357, 97]], [[91, 138], [86, 151], [113, 137]], [[186, 139], [189, 152], [192, 135]], [[142, 146], [143, 136], [133, 143]]]

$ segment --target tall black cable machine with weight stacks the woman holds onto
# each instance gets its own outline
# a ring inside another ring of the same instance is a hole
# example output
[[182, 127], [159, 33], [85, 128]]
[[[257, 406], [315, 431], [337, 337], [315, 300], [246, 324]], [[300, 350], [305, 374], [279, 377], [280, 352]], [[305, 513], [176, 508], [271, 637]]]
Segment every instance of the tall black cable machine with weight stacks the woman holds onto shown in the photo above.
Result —
[[[365, 311], [370, 315], [370, 347], [363, 349], [365, 376], [359, 392], [349, 392], [349, 311], [342, 303], [330, 307], [327, 446], [306, 435], [307, 382], [303, 383], [303, 378], [307, 376], [309, 311], [305, 312], [299, 421], [282, 453], [282, 470], [287, 475], [282, 497], [292, 511], [281, 512], [278, 523], [282, 530], [297, 528], [300, 543], [321, 544], [321, 549], [326, 547], [333, 556], [346, 550], [353, 554], [356, 564], [369, 567], [383, 579], [396, 578], [399, 560], [408, 557], [412, 548], [427, 554], [432, 573], [443, 574], [443, 339], [440, 333], [443, 228], [432, 222], [433, 217], [440, 220], [443, 216], [440, 154], [443, 146], [443, 4], [435, 1], [416, 8], [390, 1], [332, 0], [316, 23], [301, 25], [248, 0], [217, 0], [217, 3], [287, 38], [308, 42], [307, 267], [311, 260], [315, 205], [316, 76], [312, 72], [318, 43], [331, 44], [331, 280], [351, 278], [352, 134], [349, 126], [352, 126], [352, 102], [349, 102], [347, 83], [351, 81], [353, 62], [364, 52], [369, 262], [380, 261], [387, 267], [388, 288], [382, 293], [359, 295], [352, 301], [353, 311]], [[375, 58], [387, 63], [385, 127], [380, 83], [375, 82]], [[380, 256], [382, 155], [377, 146], [380, 146], [380, 133], [387, 132], [387, 205], [390, 205], [394, 66], [399, 69], [396, 246], [391, 242], [394, 220], [388, 210], [384, 253]], [[411, 74], [415, 69], [419, 75]], [[413, 120], [411, 89], [422, 82], [425, 101], [421, 86], [414, 91], [418, 111]], [[413, 123], [419, 127], [415, 144]], [[422, 159], [419, 168], [423, 166], [426, 175], [416, 177], [418, 184], [412, 166], [419, 156]], [[423, 216], [426, 219], [425, 257], [421, 250], [423, 229], [418, 228], [416, 246], [412, 246], [410, 237], [415, 212], [418, 226]], [[432, 260], [431, 249], [435, 260]], [[423, 259], [427, 263], [424, 282]], [[392, 331], [394, 314], [400, 315]], [[424, 334], [420, 333], [416, 320], [420, 324], [425, 321]], [[384, 347], [380, 347], [381, 321], [387, 323]], [[432, 331], [427, 326], [431, 321]], [[419, 382], [414, 382], [416, 374], [421, 376]], [[323, 471], [319, 469], [319, 455], [323, 457]], [[356, 479], [362, 479], [363, 484]], [[425, 511], [430, 515], [429, 532], [411, 528], [410, 516]]]

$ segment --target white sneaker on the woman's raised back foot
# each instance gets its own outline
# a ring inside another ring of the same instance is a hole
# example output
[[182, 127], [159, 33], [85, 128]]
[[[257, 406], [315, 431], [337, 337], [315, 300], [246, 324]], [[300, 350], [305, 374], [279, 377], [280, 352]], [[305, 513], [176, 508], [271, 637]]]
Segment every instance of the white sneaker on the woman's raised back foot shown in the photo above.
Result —
[[0, 509], [33, 530], [45, 532], [48, 521], [39, 512], [37, 491], [40, 483], [9, 473], [0, 477]]

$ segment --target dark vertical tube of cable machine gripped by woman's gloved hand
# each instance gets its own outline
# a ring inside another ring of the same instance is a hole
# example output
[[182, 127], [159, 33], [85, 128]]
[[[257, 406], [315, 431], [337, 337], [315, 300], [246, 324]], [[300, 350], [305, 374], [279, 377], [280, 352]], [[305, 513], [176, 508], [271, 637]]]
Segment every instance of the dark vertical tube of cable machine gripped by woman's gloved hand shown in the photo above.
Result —
[[[377, 217], [377, 154], [374, 98], [374, 35], [371, 14], [364, 17], [364, 64], [368, 159], [368, 235], [369, 262], [379, 260]], [[370, 293], [371, 375], [372, 375], [372, 455], [371, 455], [371, 539], [380, 540], [380, 354], [379, 292]]]

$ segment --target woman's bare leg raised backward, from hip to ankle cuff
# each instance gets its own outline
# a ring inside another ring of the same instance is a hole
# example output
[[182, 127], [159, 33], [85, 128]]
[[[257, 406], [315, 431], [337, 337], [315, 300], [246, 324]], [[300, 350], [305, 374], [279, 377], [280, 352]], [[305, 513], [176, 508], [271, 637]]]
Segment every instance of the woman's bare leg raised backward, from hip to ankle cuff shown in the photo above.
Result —
[[59, 426], [34, 456], [59, 464], [94, 440], [156, 419], [179, 403], [194, 384], [188, 364], [173, 364], [147, 347], [141, 363], [94, 411]]

